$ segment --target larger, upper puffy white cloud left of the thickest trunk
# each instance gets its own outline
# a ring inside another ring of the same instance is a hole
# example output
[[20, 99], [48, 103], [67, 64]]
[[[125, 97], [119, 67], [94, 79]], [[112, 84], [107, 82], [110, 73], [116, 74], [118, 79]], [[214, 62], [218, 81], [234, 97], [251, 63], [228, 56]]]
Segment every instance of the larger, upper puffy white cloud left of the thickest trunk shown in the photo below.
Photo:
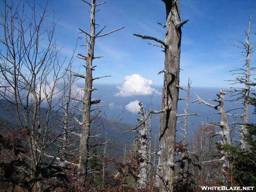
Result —
[[138, 74], [125, 76], [125, 82], [122, 86], [117, 87], [119, 92], [115, 96], [127, 97], [137, 95], [152, 95], [153, 93], [160, 94], [159, 91], [153, 88], [153, 81], [145, 79]]

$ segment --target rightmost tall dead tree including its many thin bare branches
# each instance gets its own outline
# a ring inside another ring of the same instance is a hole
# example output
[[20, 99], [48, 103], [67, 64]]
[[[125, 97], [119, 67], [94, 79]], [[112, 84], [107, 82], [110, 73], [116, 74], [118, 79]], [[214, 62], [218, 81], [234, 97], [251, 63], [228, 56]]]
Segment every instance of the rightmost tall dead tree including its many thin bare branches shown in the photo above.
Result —
[[248, 115], [249, 115], [249, 101], [248, 98], [250, 96], [250, 91], [252, 90], [251, 86], [255, 86], [256, 83], [253, 83], [251, 81], [251, 77], [253, 74], [251, 74], [251, 70], [254, 70], [250, 66], [250, 56], [252, 53], [253, 46], [249, 43], [250, 38], [250, 23], [251, 23], [251, 17], [249, 17], [249, 25], [247, 32], [245, 32], [245, 42], [240, 42], [242, 44], [242, 47], [236, 46], [240, 49], [244, 49], [242, 53], [246, 54], [245, 64], [241, 68], [237, 68], [235, 70], [231, 70], [231, 72], [234, 72], [232, 75], [236, 75], [235, 80], [228, 80], [228, 81], [234, 81], [231, 84], [243, 84], [244, 87], [231, 87], [233, 90], [231, 91], [231, 96], [236, 96], [236, 99], [233, 99], [231, 101], [236, 101], [238, 104], [242, 104], [243, 113], [241, 115], [238, 114], [230, 114], [235, 116], [241, 116], [242, 117], [242, 125], [241, 125], [241, 148], [242, 149], [249, 149], [248, 143], [244, 141], [244, 135], [247, 134], [247, 124], [248, 124]]

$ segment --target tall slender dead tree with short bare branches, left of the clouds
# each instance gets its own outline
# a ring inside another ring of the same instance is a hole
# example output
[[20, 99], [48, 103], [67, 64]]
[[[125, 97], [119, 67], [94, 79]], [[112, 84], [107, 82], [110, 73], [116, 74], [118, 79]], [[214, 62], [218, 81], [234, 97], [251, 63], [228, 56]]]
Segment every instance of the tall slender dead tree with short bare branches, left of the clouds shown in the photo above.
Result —
[[95, 88], [93, 88], [93, 81], [96, 79], [101, 79], [104, 77], [109, 76], [101, 76], [101, 77], [93, 77], [93, 70], [95, 70], [96, 66], [93, 66], [93, 60], [96, 58], [101, 58], [102, 56], [95, 56], [94, 55], [94, 47], [96, 38], [104, 37], [109, 35], [113, 32], [119, 31], [120, 29], [124, 28], [121, 27], [119, 29], [115, 29], [111, 32], [107, 32], [102, 34], [102, 31], [105, 29], [103, 27], [99, 32], [96, 32], [96, 27], [99, 25], [95, 23], [95, 13], [98, 11], [96, 7], [105, 4], [103, 3], [96, 3], [96, 0], [92, 0], [91, 3], [87, 2], [86, 0], [82, 0], [84, 3], [90, 6], [90, 33], [87, 33], [83, 29], [79, 29], [82, 34], [84, 34], [85, 41], [86, 41], [86, 48], [87, 48], [87, 55], [78, 54], [78, 57], [81, 60], [86, 62], [85, 67], [85, 74], [80, 74], [72, 70], [74, 76], [78, 76], [84, 79], [84, 98], [82, 99], [81, 103], [83, 105], [82, 110], [82, 122], [81, 122], [81, 139], [80, 139], [80, 148], [79, 148], [79, 181], [81, 183], [86, 183], [87, 181], [87, 164], [88, 164], [88, 157], [89, 155], [89, 137], [90, 137], [90, 125], [93, 119], [95, 119], [100, 111], [98, 111], [92, 118], [90, 117], [91, 107], [95, 107], [93, 104], [98, 104], [100, 100], [91, 100], [91, 95]]

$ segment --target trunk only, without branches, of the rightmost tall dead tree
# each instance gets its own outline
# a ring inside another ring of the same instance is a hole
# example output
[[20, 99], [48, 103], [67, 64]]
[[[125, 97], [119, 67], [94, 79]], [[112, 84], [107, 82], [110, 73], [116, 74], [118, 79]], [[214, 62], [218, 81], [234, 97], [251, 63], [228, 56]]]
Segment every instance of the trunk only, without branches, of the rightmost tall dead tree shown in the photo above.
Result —
[[250, 54], [252, 52], [253, 46], [249, 43], [249, 37], [250, 37], [250, 20], [249, 19], [249, 25], [248, 30], [246, 34], [245, 43], [247, 46], [247, 56], [246, 56], [246, 75], [245, 75], [245, 88], [244, 88], [244, 108], [243, 108], [243, 124], [242, 125], [242, 139], [241, 139], [241, 148], [242, 149], [249, 149], [248, 143], [244, 140], [244, 135], [247, 134], [247, 125], [248, 124], [248, 113], [249, 113], [249, 101], [248, 97], [250, 96]]

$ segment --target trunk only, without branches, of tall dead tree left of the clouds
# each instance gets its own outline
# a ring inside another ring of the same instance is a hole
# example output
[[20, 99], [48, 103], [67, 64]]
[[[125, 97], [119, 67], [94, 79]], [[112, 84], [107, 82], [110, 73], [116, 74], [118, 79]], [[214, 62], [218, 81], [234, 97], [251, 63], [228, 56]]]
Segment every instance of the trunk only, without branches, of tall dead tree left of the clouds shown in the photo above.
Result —
[[[82, 177], [79, 177], [81, 183], [86, 183], [87, 176], [87, 163], [89, 152], [89, 136], [90, 136], [90, 106], [91, 95], [93, 87], [93, 57], [94, 57], [94, 45], [95, 45], [95, 4], [96, 0], [91, 2], [90, 10], [90, 44], [87, 44], [87, 56], [86, 56], [86, 70], [85, 70], [85, 87], [84, 87], [84, 100], [83, 100], [83, 117], [81, 125], [81, 140], [79, 148], [79, 173]], [[87, 38], [87, 35], [86, 35]]]

